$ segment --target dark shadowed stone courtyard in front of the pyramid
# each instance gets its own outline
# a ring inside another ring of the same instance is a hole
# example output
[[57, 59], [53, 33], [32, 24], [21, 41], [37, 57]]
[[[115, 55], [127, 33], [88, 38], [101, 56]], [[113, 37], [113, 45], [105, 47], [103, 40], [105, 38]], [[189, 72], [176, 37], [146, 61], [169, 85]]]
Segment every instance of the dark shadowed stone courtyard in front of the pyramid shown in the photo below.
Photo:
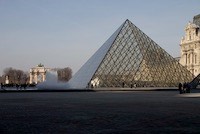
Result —
[[200, 133], [198, 93], [0, 93], [0, 133]]

